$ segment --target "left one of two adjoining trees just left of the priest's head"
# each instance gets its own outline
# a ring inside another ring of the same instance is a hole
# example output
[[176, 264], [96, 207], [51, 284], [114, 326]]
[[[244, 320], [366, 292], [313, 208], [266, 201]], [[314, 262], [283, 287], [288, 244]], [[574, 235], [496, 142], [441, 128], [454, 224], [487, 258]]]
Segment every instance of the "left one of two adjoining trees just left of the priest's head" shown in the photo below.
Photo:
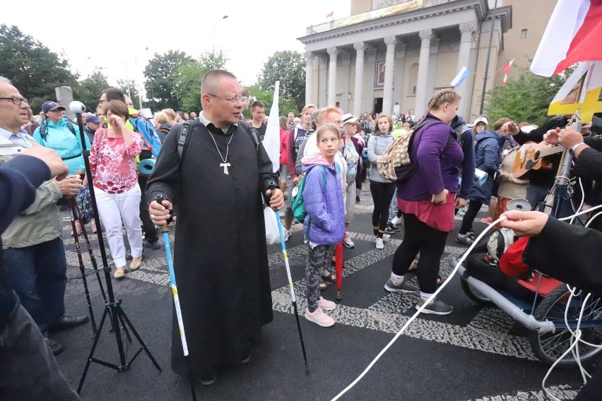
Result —
[[151, 98], [151, 103], [154, 96], [155, 109], [180, 109], [182, 100], [176, 91], [179, 82], [178, 67], [191, 60], [184, 52], [170, 50], [162, 55], [155, 54], [155, 58], [149, 61], [144, 68], [144, 89], [147, 97]]

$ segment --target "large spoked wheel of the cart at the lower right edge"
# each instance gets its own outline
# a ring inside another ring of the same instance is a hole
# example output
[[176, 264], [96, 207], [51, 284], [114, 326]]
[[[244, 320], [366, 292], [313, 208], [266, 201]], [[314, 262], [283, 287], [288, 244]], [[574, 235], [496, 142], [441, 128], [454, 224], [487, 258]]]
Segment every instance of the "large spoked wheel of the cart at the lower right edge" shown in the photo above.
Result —
[[[531, 349], [541, 361], [546, 364], [553, 364], [564, 354], [571, 344], [572, 335], [565, 325], [565, 310], [569, 300], [570, 292], [567, 286], [562, 284], [553, 289], [547, 297], [537, 306], [533, 317], [538, 321], [552, 321], [560, 323], [564, 329], [557, 328], [554, 333], [540, 334], [535, 330], [529, 331], [529, 343]], [[569, 324], [577, 322], [581, 312], [585, 294], [579, 297], [573, 297], [568, 306], [567, 320]], [[584, 308], [582, 325], [582, 340], [592, 345], [602, 345], [602, 299], [590, 297]], [[572, 327], [572, 330], [575, 329]], [[579, 342], [579, 359], [582, 362], [590, 361], [598, 356], [602, 351], [600, 347], [591, 347]], [[558, 365], [572, 366], [576, 364], [572, 353], [567, 354]]]

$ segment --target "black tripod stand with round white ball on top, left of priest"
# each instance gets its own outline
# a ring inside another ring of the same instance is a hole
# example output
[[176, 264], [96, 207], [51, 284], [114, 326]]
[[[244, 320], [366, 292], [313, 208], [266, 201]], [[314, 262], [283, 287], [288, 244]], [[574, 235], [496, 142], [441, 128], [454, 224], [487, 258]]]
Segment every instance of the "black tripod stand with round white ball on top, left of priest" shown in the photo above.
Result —
[[[79, 127], [79, 134], [81, 137], [81, 145], [82, 145], [82, 154], [83, 160], [85, 163], [85, 172], [88, 175], [88, 179], [90, 179], [90, 183], [92, 182], [92, 172], [90, 170], [90, 151], [85, 148], [85, 132], [83, 131], [83, 121], [81, 119], [81, 114], [85, 112], [85, 106], [81, 102], [71, 102], [69, 104], [69, 108], [71, 112], [75, 113], [77, 116], [77, 123]], [[96, 196], [93, 188], [90, 186], [90, 198], [92, 199], [92, 210], [94, 214], [94, 221], [96, 225], [96, 234], [98, 235], [98, 245], [100, 247], [100, 257], [102, 259], [102, 270], [105, 272], [105, 282], [107, 284], [107, 295], [108, 299], [105, 299], [105, 311], [102, 313], [102, 318], [100, 318], [100, 325], [98, 326], [98, 330], [96, 331], [94, 342], [92, 343], [92, 348], [90, 349], [90, 354], [88, 355], [88, 360], [85, 362], [85, 368], [83, 369], [83, 373], [81, 379], [79, 381], [79, 385], [77, 388], [77, 392], [81, 392], [81, 388], [83, 387], [83, 382], [85, 381], [85, 376], [88, 374], [88, 369], [90, 369], [90, 364], [95, 362], [96, 364], [100, 364], [102, 366], [107, 366], [108, 368], [115, 369], [116, 371], [124, 371], [129, 369], [134, 359], [138, 357], [138, 355], [144, 350], [148, 355], [148, 358], [151, 359], [153, 365], [159, 372], [161, 372], [161, 368], [151, 352], [146, 347], [146, 344], [143, 342], [142, 338], [134, 328], [134, 325], [131, 324], [131, 321], [126, 316], [124, 310], [122, 309], [122, 300], [115, 299], [115, 295], [113, 292], [113, 285], [111, 279], [111, 269], [109, 267], [109, 263], [107, 262], [107, 253], [105, 251], [105, 241], [102, 238], [102, 228], [100, 227], [100, 218], [98, 217], [98, 207], [96, 205]], [[74, 223], [73, 223], [74, 225]], [[109, 320], [111, 323], [112, 332], [115, 335], [115, 340], [117, 342], [117, 351], [119, 352], [119, 364], [112, 364], [107, 361], [102, 361], [100, 359], [96, 359], [94, 357], [94, 352], [96, 350], [96, 346], [98, 345], [98, 339], [100, 338], [100, 333], [102, 333], [102, 327], [105, 325], [105, 320], [109, 316]], [[136, 340], [140, 344], [140, 349], [138, 352], [134, 354], [129, 361], [126, 360], [126, 352], [124, 350], [124, 341], [122, 337], [122, 333], [119, 330], [119, 323], [122, 324], [124, 331], [126, 333], [127, 339], [131, 342], [131, 338], [129, 337], [129, 332], [126, 327], [131, 330], [131, 333], [134, 334]]]

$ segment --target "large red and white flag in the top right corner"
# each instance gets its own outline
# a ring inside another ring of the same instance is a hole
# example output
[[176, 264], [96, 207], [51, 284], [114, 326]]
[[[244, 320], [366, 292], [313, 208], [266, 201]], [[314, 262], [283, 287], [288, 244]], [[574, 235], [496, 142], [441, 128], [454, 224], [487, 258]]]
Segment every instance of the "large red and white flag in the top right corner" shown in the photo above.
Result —
[[552, 76], [579, 61], [602, 60], [602, 0], [558, 0], [531, 72]]

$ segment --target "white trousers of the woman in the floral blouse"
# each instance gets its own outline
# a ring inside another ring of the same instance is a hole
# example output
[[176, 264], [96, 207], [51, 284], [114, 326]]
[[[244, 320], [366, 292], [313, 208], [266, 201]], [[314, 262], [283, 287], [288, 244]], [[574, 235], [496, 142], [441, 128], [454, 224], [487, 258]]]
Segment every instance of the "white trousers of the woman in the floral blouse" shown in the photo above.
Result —
[[127, 240], [131, 249], [131, 256], [142, 256], [142, 228], [140, 227], [140, 186], [124, 193], [106, 193], [102, 189], [94, 188], [96, 205], [100, 222], [105, 226], [107, 241], [116, 268], [126, 265], [124, 236], [122, 225], [126, 228]]

